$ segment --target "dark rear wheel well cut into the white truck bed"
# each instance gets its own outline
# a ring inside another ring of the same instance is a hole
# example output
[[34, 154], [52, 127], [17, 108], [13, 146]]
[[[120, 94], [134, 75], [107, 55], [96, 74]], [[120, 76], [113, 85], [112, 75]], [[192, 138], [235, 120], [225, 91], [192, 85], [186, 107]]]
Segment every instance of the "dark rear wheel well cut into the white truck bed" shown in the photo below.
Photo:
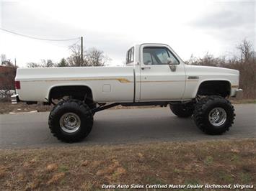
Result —
[[73, 99], [93, 103], [91, 88], [84, 85], [57, 86], [50, 89], [49, 101], [71, 96]]

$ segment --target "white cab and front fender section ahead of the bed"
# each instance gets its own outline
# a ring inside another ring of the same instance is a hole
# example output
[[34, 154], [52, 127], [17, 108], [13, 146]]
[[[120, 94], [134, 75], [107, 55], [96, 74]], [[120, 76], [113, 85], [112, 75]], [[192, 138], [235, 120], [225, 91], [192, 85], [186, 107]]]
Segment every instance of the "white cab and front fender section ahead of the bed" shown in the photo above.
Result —
[[128, 50], [125, 63], [135, 69], [135, 101], [187, 101], [200, 91], [235, 96], [238, 89], [239, 71], [186, 65], [164, 44], [134, 45]]

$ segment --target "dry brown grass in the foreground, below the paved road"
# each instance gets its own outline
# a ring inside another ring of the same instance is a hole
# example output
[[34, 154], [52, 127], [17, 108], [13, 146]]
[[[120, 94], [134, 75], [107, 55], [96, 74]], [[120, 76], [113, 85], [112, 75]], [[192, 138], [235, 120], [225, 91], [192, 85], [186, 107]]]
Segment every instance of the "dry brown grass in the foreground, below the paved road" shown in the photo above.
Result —
[[0, 190], [255, 182], [256, 139], [0, 150]]

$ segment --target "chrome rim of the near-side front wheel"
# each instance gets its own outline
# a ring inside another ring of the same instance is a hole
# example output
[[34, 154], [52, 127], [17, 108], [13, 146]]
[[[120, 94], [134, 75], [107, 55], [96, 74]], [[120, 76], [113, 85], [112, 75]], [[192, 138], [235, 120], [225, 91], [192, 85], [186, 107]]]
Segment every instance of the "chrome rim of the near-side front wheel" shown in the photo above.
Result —
[[224, 108], [213, 108], [208, 118], [210, 124], [213, 126], [221, 126], [226, 122], [226, 111]]

